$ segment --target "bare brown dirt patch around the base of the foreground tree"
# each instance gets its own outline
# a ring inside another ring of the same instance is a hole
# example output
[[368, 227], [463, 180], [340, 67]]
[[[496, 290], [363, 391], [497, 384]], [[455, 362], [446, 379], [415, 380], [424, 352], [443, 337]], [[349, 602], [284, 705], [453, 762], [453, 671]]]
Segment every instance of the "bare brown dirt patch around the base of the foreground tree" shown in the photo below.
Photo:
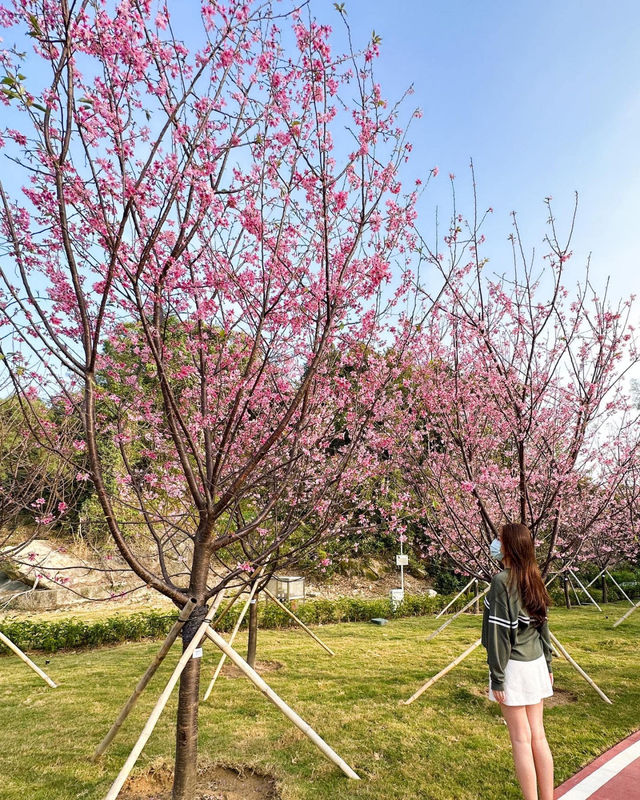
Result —
[[[129, 778], [122, 800], [171, 800], [173, 770], [159, 763]], [[220, 764], [198, 769], [198, 782], [192, 800], [279, 800], [276, 781], [250, 768], [235, 769]]]

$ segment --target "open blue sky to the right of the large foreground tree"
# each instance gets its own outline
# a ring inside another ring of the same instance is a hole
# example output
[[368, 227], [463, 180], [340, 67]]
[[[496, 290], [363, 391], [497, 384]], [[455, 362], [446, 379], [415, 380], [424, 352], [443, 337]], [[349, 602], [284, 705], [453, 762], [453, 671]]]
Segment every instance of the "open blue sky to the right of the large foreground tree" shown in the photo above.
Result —
[[[333, 2], [312, 10], [340, 29]], [[383, 94], [413, 83], [424, 111], [413, 167], [440, 168], [422, 204], [427, 229], [435, 205], [448, 207], [448, 173], [464, 195], [473, 157], [480, 206], [494, 208], [486, 255], [497, 271], [509, 212], [539, 248], [544, 198], [566, 229], [577, 190], [568, 283], [591, 252], [598, 288], [610, 275], [615, 297], [640, 296], [638, 0], [346, 0], [345, 10], [355, 43], [372, 29], [382, 37]]]

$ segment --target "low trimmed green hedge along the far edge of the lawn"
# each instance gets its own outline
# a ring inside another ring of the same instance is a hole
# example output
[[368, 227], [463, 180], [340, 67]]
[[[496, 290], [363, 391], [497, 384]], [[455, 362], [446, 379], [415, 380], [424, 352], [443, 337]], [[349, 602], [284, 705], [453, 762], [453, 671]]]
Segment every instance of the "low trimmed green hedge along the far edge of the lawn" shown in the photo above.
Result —
[[[394, 610], [391, 601], [385, 598], [364, 599], [340, 597], [336, 600], [307, 600], [300, 603], [296, 616], [305, 624], [327, 624], [332, 622], [367, 622], [373, 617], [394, 619], [399, 617], [424, 616], [444, 608], [452, 596], [406, 595]], [[453, 609], [462, 608], [471, 595], [461, 597]], [[234, 606], [216, 629], [230, 631], [238, 619], [242, 604]], [[83, 622], [77, 617], [55, 621], [29, 622], [27, 620], [4, 620], [0, 630], [22, 650], [42, 650], [55, 653], [57, 650], [98, 647], [99, 645], [136, 642], [142, 639], [160, 639], [166, 636], [176, 619], [176, 614], [160, 611], [140, 611], [107, 617], [97, 622]], [[258, 625], [261, 628], [288, 628], [295, 622], [275, 603], [261, 603], [258, 607]], [[246, 619], [243, 627], [246, 626]], [[9, 650], [0, 645], [0, 653]]]

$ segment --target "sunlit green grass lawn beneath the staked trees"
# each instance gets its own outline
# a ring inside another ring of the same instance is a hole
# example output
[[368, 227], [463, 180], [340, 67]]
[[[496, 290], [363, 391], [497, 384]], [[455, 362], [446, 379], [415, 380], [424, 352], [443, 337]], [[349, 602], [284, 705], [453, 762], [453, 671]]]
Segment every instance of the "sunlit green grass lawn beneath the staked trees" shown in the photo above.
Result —
[[[640, 727], [640, 611], [616, 629], [625, 609], [553, 609], [552, 630], [613, 700], [602, 702], [562, 659], [556, 687], [575, 702], [546, 713], [556, 783]], [[411, 706], [400, 705], [480, 635], [464, 615], [433, 641], [441, 620], [410, 618], [377, 627], [318, 629], [328, 656], [300, 630], [263, 631], [259, 659], [277, 660], [271, 686], [360, 774], [349, 781], [245, 678], [221, 677], [201, 706], [200, 753], [210, 762], [251, 765], [278, 779], [283, 800], [508, 800], [520, 797], [507, 729], [482, 694], [478, 649]], [[164, 686], [178, 648], [156, 675], [99, 764], [89, 757], [146, 668], [157, 643], [135, 643], [50, 657], [49, 689], [17, 658], [0, 658], [0, 798], [100, 800], [124, 763]], [[237, 647], [244, 652], [245, 639]], [[34, 656], [44, 667], [45, 657]], [[204, 687], [217, 662], [205, 647]], [[175, 698], [174, 698], [175, 699]], [[171, 759], [175, 702], [160, 719], [137, 768]]]

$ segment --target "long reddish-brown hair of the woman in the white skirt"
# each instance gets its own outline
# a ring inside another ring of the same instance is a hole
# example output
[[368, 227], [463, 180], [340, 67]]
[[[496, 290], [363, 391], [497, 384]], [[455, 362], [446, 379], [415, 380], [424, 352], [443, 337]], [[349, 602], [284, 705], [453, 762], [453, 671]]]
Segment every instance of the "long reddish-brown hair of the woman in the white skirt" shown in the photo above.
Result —
[[533, 624], [540, 627], [547, 617], [551, 598], [536, 561], [531, 531], [526, 525], [510, 522], [502, 526], [500, 540], [502, 552], [511, 567], [509, 584], [518, 587], [522, 605]]

